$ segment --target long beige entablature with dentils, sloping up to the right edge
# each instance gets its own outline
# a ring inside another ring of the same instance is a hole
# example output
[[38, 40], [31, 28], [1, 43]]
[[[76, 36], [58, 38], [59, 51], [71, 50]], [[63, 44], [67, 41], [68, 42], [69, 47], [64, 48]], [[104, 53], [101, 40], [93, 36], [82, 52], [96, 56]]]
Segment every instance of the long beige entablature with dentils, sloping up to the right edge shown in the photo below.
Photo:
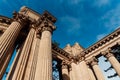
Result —
[[92, 58], [93, 56], [98, 56], [102, 51], [107, 50], [110, 47], [115, 46], [120, 42], [120, 28], [104, 37], [97, 43], [93, 44], [89, 48], [85, 49], [83, 53], [85, 54], [85, 60]]

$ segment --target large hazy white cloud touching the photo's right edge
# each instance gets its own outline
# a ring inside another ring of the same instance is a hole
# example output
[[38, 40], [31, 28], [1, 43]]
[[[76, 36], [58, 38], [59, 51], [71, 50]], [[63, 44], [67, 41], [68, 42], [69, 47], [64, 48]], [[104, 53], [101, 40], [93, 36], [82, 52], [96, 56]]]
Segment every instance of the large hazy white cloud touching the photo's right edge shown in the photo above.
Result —
[[120, 26], [120, 5], [108, 11], [102, 18], [104, 25], [109, 29], [116, 29]]

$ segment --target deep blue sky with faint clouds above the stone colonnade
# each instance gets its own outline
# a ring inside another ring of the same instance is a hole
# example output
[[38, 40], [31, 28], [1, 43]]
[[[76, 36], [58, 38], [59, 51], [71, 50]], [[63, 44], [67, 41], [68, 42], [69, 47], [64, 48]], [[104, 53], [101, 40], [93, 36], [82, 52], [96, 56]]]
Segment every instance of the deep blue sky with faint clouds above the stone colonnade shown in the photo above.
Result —
[[0, 0], [0, 15], [12, 17], [23, 5], [57, 18], [53, 40], [61, 48], [75, 42], [87, 48], [120, 26], [120, 0]]

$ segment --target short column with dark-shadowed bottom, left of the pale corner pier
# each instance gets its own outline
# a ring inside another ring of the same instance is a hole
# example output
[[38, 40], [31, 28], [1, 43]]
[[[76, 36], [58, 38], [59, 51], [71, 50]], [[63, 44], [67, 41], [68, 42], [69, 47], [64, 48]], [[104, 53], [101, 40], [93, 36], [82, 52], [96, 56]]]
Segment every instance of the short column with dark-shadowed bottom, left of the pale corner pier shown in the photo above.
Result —
[[69, 72], [68, 72], [68, 64], [66, 62], [62, 62], [62, 79], [70, 80]]

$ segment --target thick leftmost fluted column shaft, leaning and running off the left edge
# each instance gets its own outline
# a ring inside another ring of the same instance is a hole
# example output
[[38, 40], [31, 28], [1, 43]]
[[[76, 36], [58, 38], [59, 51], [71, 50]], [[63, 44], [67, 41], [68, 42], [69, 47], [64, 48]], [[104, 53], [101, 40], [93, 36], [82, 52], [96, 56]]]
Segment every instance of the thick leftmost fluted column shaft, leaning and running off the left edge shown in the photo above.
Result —
[[23, 26], [19, 22], [14, 21], [0, 37], [0, 61], [3, 59], [7, 50], [15, 42], [22, 27]]

